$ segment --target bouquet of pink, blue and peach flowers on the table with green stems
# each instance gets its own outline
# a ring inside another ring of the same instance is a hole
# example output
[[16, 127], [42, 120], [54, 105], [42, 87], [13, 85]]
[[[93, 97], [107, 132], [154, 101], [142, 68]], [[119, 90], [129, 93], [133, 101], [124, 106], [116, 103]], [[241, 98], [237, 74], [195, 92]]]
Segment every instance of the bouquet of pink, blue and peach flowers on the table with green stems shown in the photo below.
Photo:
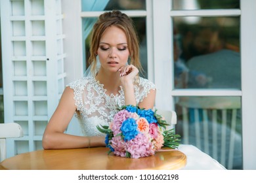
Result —
[[116, 156], [142, 158], [154, 155], [161, 147], [177, 148], [180, 135], [174, 129], [165, 130], [168, 124], [156, 112], [123, 106], [109, 126], [97, 126], [97, 129], [106, 133], [106, 146]]

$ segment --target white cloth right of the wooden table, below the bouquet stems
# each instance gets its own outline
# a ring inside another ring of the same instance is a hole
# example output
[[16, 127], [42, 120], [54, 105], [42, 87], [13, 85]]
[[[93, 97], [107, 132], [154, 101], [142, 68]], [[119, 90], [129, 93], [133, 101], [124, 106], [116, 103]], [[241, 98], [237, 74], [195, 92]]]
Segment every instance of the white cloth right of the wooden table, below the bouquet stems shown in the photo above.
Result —
[[196, 146], [180, 144], [179, 151], [186, 155], [186, 166], [182, 170], [225, 170], [223, 165]]

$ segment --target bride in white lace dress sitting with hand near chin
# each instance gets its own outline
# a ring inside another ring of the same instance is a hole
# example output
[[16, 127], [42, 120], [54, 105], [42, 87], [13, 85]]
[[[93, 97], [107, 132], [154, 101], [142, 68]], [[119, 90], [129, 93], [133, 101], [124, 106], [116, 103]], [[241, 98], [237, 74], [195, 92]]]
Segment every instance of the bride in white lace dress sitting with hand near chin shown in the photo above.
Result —
[[[117, 107], [154, 107], [156, 87], [139, 76], [142, 69], [139, 41], [133, 22], [126, 14], [114, 10], [100, 15], [93, 27], [89, 62], [91, 75], [65, 88], [45, 129], [43, 148], [106, 146], [104, 134], [96, 125], [110, 124]], [[83, 136], [64, 133], [74, 113]]]

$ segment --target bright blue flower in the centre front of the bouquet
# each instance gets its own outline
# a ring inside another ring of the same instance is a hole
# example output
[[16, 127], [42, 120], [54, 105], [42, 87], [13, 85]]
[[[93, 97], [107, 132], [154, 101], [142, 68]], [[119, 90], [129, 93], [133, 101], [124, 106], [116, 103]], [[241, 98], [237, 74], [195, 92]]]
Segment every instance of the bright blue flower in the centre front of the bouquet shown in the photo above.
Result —
[[128, 118], [123, 122], [120, 129], [123, 133], [123, 139], [125, 140], [125, 142], [134, 139], [136, 135], [138, 135], [139, 131], [137, 130], [137, 128], [138, 125], [133, 118]]

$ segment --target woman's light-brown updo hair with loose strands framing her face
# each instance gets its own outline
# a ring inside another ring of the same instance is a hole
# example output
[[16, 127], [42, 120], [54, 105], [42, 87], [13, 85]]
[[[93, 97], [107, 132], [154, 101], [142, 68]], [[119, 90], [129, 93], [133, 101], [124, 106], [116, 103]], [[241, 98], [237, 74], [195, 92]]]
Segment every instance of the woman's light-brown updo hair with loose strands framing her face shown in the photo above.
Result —
[[131, 59], [130, 63], [135, 65], [135, 67], [137, 67], [139, 71], [142, 71], [139, 59], [139, 38], [133, 24], [133, 20], [119, 10], [113, 10], [111, 12], [104, 12], [103, 14], [101, 14], [97, 22], [93, 26], [89, 56], [91, 73], [93, 73], [93, 75], [96, 75], [96, 53], [100, 43], [100, 38], [102, 37], [102, 34], [106, 30], [106, 28], [112, 25], [119, 27], [125, 32], [130, 53], [129, 57]]

